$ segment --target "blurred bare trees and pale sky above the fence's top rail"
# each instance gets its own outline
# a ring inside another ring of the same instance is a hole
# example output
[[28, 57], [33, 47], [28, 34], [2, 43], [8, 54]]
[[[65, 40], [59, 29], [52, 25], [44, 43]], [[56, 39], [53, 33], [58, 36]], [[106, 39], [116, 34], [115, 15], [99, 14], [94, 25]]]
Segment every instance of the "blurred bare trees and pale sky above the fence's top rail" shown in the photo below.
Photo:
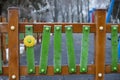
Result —
[[[0, 0], [0, 16], [7, 17], [8, 7], [19, 7], [20, 21], [90, 22], [89, 12], [107, 9], [112, 0]], [[119, 23], [120, 0], [114, 0], [110, 22]]]

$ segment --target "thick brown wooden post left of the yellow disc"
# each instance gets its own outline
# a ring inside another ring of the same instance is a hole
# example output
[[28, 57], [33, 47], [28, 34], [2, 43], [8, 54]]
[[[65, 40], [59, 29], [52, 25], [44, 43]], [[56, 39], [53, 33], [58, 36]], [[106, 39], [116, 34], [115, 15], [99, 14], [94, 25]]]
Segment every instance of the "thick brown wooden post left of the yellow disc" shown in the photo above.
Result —
[[19, 80], [18, 8], [8, 10], [9, 80]]

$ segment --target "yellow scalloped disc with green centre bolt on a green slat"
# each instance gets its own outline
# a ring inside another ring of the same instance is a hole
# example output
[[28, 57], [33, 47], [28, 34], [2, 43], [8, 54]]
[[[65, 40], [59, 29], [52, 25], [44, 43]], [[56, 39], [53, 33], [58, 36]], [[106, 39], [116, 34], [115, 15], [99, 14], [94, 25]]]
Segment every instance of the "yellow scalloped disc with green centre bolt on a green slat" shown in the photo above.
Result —
[[24, 38], [24, 45], [26, 47], [33, 47], [36, 44], [35, 38], [31, 35], [28, 35]]

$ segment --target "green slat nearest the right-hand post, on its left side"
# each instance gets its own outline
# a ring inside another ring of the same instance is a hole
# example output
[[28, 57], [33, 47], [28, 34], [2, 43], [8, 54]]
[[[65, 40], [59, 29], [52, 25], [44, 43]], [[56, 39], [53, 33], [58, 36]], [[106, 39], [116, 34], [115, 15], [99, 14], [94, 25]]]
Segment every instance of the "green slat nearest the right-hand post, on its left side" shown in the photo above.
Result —
[[80, 72], [87, 72], [90, 27], [84, 25], [82, 31]]

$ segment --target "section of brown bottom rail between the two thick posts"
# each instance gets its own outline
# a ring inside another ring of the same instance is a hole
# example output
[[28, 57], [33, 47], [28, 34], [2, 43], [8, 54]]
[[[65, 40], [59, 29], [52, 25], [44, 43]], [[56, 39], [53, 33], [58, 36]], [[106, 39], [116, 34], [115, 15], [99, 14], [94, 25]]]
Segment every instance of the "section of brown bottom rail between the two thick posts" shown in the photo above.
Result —
[[[79, 66], [76, 66], [76, 73], [74, 73], [74, 74], [82, 74], [82, 73], [80, 73], [79, 68], [80, 68]], [[49, 75], [49, 76], [55, 75], [53, 66], [48, 66], [47, 69], [48, 70], [47, 70], [47, 73], [45, 75]], [[62, 66], [61, 69], [62, 69], [62, 71], [59, 75], [70, 75], [68, 66]], [[94, 65], [89, 65], [88, 66], [88, 72], [86, 74], [94, 74], [94, 72], [95, 72], [94, 71]], [[21, 66], [20, 67], [20, 75], [21, 76], [27, 76], [28, 75], [26, 66]], [[36, 73], [32, 74], [32, 75], [35, 75], [35, 76], [42, 75], [42, 74], [39, 74], [39, 66], [36, 66]]]

